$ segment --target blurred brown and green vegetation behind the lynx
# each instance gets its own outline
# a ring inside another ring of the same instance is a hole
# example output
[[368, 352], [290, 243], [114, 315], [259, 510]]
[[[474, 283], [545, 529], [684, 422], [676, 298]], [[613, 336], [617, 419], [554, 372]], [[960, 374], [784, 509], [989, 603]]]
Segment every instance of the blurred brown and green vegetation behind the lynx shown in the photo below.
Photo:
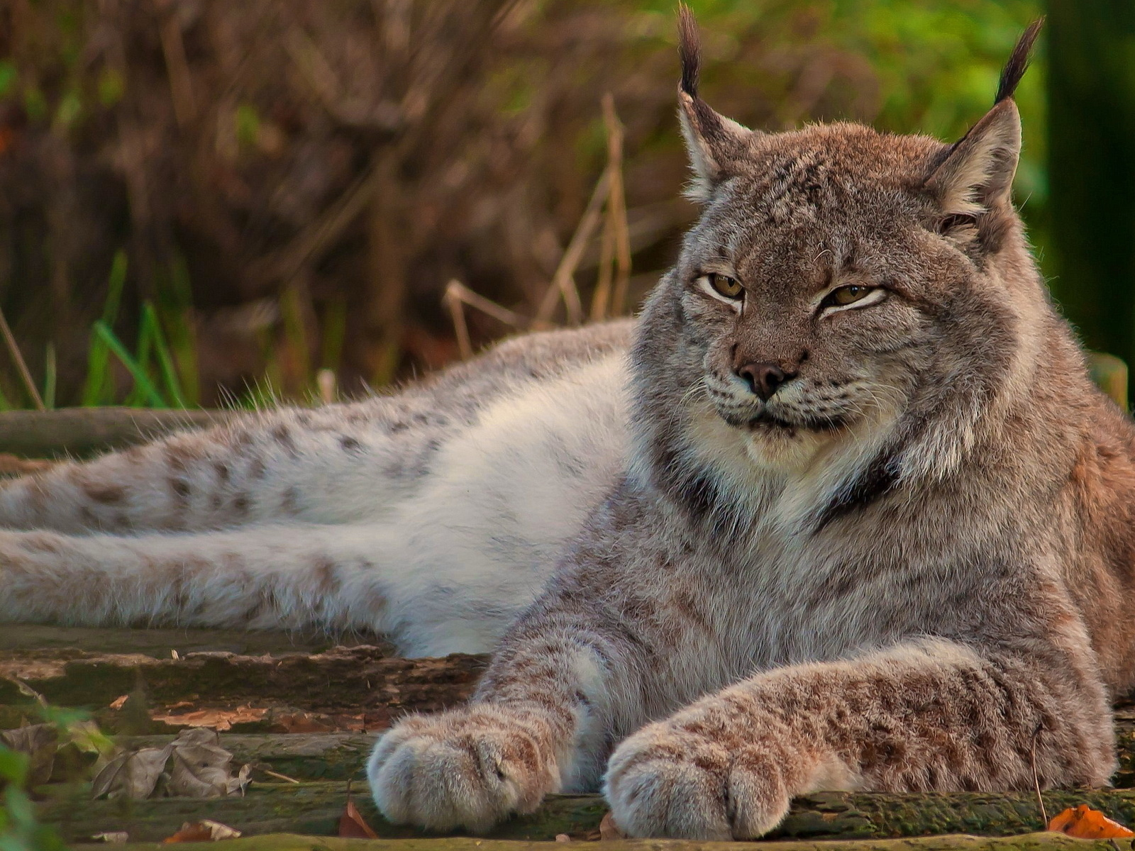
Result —
[[[1033, 0], [691, 6], [721, 111], [945, 140], [989, 108], [1040, 14]], [[607, 312], [632, 309], [693, 216], [678, 197], [673, 12], [673, 0], [7, 0], [0, 309], [42, 404], [326, 397], [328, 376], [354, 394], [459, 356], [447, 292], [505, 309], [462, 309], [473, 346], [524, 327], [563, 272], [613, 128], [625, 233], [596, 227], [569, 277], [590, 303], [625, 238], [629, 296]], [[1019, 90], [1017, 185], [1042, 259], [1043, 73], [1042, 56]], [[606, 93], [621, 128], [604, 120]], [[0, 357], [0, 404], [33, 404]]]

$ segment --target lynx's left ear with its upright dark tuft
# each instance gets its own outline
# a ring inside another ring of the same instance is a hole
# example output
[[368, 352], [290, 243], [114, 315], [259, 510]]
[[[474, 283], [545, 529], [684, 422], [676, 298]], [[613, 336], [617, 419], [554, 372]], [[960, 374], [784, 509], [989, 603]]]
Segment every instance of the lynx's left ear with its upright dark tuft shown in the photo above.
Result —
[[684, 3], [678, 10], [678, 35], [682, 57], [678, 115], [693, 170], [693, 180], [686, 194], [692, 201], [704, 202], [714, 186], [729, 176], [731, 165], [745, 155], [749, 142], [759, 134], [718, 115], [698, 96], [701, 66], [698, 25], [693, 12]]

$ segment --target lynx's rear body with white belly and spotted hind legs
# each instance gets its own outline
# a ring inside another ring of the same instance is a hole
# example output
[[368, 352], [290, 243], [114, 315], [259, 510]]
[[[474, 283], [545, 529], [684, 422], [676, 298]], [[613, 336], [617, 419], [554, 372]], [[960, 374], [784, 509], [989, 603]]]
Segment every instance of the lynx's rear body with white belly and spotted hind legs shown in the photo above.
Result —
[[411, 656], [488, 651], [622, 464], [631, 328], [531, 335], [394, 396], [11, 482], [0, 622], [368, 630]]

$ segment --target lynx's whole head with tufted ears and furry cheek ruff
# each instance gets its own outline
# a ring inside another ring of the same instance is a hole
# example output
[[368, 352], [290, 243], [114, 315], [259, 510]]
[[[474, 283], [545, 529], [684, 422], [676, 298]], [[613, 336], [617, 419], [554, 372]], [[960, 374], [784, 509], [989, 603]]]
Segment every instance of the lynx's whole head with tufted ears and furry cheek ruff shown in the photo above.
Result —
[[742, 127], [698, 96], [681, 9], [679, 115], [701, 216], [634, 352], [639, 458], [667, 490], [732, 502], [723, 490], [770, 473], [842, 465], [829, 481], [842, 496], [827, 490], [847, 502], [916, 467], [941, 477], [1023, 386], [1052, 320], [1010, 199], [1012, 93], [1039, 31], [993, 108], [944, 144], [857, 124]]

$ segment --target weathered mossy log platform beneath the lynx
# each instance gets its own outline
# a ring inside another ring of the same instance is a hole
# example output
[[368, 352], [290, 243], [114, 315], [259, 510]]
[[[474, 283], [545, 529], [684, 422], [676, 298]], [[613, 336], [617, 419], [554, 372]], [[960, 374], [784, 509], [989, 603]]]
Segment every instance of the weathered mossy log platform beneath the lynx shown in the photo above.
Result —
[[[220, 745], [233, 755], [234, 770], [253, 766], [243, 795], [127, 801], [91, 800], [90, 783], [84, 782], [90, 770], [84, 775], [82, 765], [76, 770], [74, 761], [58, 760], [52, 782], [40, 786], [39, 811], [72, 843], [119, 831], [126, 831], [132, 842], [160, 841], [183, 823], [201, 818], [221, 821], [245, 836], [331, 836], [347, 801], [348, 781], [353, 801], [379, 836], [423, 839], [414, 829], [385, 823], [375, 810], [363, 782], [365, 756], [375, 735], [401, 714], [461, 702], [485, 662], [477, 656], [402, 659], [373, 637], [333, 646], [319, 637], [272, 633], [6, 627], [0, 634], [0, 728], [40, 719], [36, 699], [30, 694], [35, 692], [54, 706], [89, 709], [124, 749], [162, 748], [180, 730], [204, 725], [221, 731]], [[1123, 707], [1118, 714], [1124, 770], [1117, 780], [1128, 783], [1135, 714]], [[1050, 815], [1087, 802], [1135, 823], [1135, 790], [1051, 792], [1044, 799]], [[568, 834], [586, 840], [598, 835], [605, 811], [597, 797], [555, 797], [537, 814], [499, 826], [491, 837], [549, 841]], [[814, 840], [836, 839], [872, 840], [864, 848], [878, 848], [877, 841], [894, 837], [1014, 835], [1041, 826], [1033, 793], [831, 792], [799, 799], [773, 839], [796, 840], [800, 844], [793, 848], [800, 849], [810, 848]], [[269, 844], [254, 848], [313, 846], [311, 840], [295, 836], [264, 842]], [[438, 846], [464, 844], [437, 840]], [[994, 846], [1008, 848], [980, 845]], [[1012, 845], [1018, 846], [1026, 845]], [[405, 851], [411, 851], [410, 843]]]

